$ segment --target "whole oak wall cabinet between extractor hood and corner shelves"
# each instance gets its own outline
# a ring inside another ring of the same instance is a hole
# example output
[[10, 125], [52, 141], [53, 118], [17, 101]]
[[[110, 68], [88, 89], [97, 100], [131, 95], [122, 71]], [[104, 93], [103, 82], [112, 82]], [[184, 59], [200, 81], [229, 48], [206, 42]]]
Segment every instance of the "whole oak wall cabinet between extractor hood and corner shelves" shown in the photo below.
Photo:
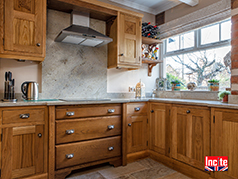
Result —
[[[108, 44], [108, 68], [141, 67], [141, 18], [118, 12], [111, 21]], [[109, 26], [109, 25], [108, 25]]]

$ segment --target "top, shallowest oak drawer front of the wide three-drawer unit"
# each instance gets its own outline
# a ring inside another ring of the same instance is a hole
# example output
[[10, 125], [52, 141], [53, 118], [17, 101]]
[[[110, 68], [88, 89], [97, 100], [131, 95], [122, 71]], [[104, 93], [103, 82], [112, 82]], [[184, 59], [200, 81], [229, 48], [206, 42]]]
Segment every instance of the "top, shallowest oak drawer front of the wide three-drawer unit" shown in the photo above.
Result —
[[70, 119], [79, 117], [112, 116], [121, 114], [121, 105], [100, 105], [83, 107], [56, 108], [56, 119]]

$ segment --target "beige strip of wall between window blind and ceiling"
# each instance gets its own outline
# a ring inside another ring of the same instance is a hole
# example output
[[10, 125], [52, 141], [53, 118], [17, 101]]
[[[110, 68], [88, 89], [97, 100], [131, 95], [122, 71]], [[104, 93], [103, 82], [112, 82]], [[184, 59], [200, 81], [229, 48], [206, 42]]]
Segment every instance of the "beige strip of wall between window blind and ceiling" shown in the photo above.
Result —
[[165, 23], [183, 17], [216, 2], [218, 2], [218, 0], [199, 0], [199, 4], [194, 7], [182, 3], [172, 9], [165, 11]]

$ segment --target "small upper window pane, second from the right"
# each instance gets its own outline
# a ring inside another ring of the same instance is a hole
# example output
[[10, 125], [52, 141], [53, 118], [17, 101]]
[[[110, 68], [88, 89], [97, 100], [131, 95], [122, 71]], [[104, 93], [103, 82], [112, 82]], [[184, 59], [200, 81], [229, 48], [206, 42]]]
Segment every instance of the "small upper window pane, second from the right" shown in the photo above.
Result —
[[219, 41], [219, 24], [201, 29], [201, 44], [209, 44]]

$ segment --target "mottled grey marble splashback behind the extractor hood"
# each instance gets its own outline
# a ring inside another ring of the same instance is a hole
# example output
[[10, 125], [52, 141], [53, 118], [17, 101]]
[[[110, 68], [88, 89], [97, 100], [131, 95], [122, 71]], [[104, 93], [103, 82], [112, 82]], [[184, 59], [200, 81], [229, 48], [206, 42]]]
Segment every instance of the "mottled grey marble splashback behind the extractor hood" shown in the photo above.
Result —
[[[70, 25], [70, 14], [48, 10], [46, 58], [42, 64], [41, 98], [104, 98], [107, 96], [107, 46], [92, 48], [54, 42]], [[105, 22], [90, 27], [105, 33]]]

